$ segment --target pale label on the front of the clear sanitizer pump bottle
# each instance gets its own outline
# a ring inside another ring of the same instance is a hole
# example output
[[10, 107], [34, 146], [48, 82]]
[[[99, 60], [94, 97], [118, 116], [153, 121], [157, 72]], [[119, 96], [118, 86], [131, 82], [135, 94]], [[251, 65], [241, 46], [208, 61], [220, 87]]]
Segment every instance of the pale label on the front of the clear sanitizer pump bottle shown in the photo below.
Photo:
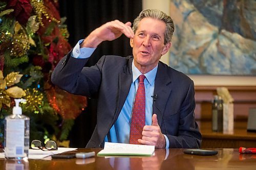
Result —
[[6, 120], [6, 157], [24, 157], [25, 120]]

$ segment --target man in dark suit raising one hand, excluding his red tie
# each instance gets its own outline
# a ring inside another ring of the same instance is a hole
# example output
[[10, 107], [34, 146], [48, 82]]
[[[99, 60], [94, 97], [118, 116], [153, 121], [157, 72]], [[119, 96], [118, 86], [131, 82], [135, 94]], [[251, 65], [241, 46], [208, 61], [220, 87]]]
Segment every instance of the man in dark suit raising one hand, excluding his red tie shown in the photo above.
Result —
[[[159, 61], [171, 46], [172, 18], [159, 10], [143, 10], [131, 25], [118, 20], [105, 23], [80, 40], [53, 71], [55, 85], [98, 98], [97, 125], [87, 148], [102, 147], [106, 141], [129, 143], [140, 75], [145, 76], [145, 126], [136, 142], [156, 148], [199, 148], [194, 83]], [[133, 56], [103, 56], [95, 66], [84, 67], [102, 41], [122, 34], [130, 38]]]

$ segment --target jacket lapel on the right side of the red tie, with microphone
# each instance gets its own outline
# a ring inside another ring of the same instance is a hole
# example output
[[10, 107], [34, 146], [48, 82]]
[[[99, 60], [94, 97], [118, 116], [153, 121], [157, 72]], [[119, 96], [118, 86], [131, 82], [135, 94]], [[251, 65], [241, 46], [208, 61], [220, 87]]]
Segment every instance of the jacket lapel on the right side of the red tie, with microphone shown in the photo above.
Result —
[[[167, 100], [172, 91], [170, 87], [170, 75], [167, 74], [167, 66], [159, 62], [156, 80], [155, 80], [155, 90], [154, 94], [157, 94], [157, 100], [153, 104], [153, 113], [157, 114], [157, 120], [160, 127], [162, 127], [164, 109], [167, 103]], [[163, 129], [161, 128], [162, 132]]]

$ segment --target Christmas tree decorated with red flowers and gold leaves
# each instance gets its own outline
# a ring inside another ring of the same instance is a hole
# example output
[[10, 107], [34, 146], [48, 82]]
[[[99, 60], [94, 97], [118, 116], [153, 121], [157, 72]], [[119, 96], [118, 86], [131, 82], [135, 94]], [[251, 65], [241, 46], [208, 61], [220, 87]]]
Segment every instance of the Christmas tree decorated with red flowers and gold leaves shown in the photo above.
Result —
[[[51, 72], [71, 46], [56, 0], [0, 2], [0, 143], [4, 142], [4, 118], [12, 114], [14, 98], [30, 117], [30, 140], [66, 141], [74, 119], [87, 100], [55, 87]], [[1, 145], [0, 145], [1, 147]], [[2, 145], [3, 147], [3, 145]]]

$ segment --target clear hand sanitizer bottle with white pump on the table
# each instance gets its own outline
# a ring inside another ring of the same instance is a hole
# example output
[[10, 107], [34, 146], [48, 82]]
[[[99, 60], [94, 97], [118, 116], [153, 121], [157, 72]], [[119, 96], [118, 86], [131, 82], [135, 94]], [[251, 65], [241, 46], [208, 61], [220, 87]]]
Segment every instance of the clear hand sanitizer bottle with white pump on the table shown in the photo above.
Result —
[[14, 99], [15, 106], [12, 115], [5, 117], [5, 158], [28, 159], [29, 153], [29, 117], [22, 115], [19, 102], [24, 99]]

